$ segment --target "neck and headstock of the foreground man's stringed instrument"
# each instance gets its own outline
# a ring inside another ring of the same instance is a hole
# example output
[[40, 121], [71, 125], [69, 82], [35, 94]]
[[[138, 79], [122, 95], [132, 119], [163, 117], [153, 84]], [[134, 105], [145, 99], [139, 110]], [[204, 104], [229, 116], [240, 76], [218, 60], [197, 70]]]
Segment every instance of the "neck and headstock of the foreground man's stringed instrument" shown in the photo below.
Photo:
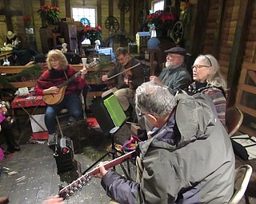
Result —
[[[114, 167], [120, 163], [123, 163], [124, 161], [128, 159], [134, 158], [136, 155], [135, 150], [130, 151], [126, 155], [122, 155], [108, 163], [104, 164], [104, 167], [106, 170], [110, 169], [111, 167]], [[68, 186], [59, 186], [59, 196], [63, 198], [64, 200], [67, 198], [70, 198], [74, 193], [76, 193], [78, 190], [82, 190], [83, 186], [86, 186], [89, 182], [90, 179], [94, 175], [97, 175], [99, 173], [99, 167], [94, 168], [92, 171], [87, 172], [85, 175], [82, 175], [80, 178], [76, 179], [74, 182], [71, 182]]]

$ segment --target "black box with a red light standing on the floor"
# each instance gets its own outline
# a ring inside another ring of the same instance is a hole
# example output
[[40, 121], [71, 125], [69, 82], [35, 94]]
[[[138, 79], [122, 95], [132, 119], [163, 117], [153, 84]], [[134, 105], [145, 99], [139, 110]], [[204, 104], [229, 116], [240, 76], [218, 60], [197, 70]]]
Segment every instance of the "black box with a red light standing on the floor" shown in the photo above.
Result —
[[58, 174], [74, 170], [74, 147], [73, 141], [68, 137], [63, 137], [58, 141], [54, 151]]

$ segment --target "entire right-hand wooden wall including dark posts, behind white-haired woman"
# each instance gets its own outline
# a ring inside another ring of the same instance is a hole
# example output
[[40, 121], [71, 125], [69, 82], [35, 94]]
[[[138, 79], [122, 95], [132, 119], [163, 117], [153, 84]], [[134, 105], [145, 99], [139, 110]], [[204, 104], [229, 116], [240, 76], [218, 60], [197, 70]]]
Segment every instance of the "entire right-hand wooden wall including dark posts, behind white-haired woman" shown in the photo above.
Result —
[[202, 28], [206, 28], [202, 29], [202, 44], [194, 49], [203, 54], [211, 53], [218, 59], [230, 88], [228, 105], [236, 105], [242, 111], [240, 131], [250, 136], [256, 135], [255, 4], [255, 1], [210, 0], [206, 25], [202, 24]]

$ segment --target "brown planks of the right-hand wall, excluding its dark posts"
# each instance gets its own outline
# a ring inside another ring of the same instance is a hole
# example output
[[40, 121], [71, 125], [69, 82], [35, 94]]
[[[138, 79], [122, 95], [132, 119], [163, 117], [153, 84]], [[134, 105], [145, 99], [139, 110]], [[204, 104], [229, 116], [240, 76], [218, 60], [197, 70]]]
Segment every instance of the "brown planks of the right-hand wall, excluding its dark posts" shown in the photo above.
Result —
[[[228, 78], [230, 62], [236, 60], [232, 59], [231, 56], [236, 56], [234, 55], [234, 52], [242, 54], [242, 65], [235, 65], [236, 72], [240, 72], [240, 70], [238, 70], [239, 67], [242, 70], [235, 105], [242, 110], [244, 115], [244, 120], [240, 131], [252, 136], [256, 135], [256, 2], [249, 2], [250, 7], [252, 6], [253, 12], [250, 18], [246, 18], [248, 19], [248, 21], [245, 22], [248, 24], [246, 29], [243, 29], [238, 25], [238, 16], [241, 3], [241, 0], [226, 1], [226, 5], [224, 5], [225, 9], [222, 11], [224, 14], [219, 37], [220, 40], [218, 41], [219, 46], [217, 46], [219, 47], [219, 50], [216, 52], [216, 50], [213, 50], [214, 33], [217, 31], [216, 29], [219, 23], [219, 8], [223, 5], [221, 5], [222, 1], [210, 1], [206, 30], [204, 30], [205, 34], [203, 37], [202, 53], [218, 53], [215, 57], [217, 57], [222, 75], [227, 81], [234, 80]], [[234, 47], [234, 37], [236, 32], [239, 33], [241, 30], [243, 33], [246, 32], [246, 42], [242, 41], [241, 46]], [[234, 87], [231, 88], [233, 88], [234, 91]]]

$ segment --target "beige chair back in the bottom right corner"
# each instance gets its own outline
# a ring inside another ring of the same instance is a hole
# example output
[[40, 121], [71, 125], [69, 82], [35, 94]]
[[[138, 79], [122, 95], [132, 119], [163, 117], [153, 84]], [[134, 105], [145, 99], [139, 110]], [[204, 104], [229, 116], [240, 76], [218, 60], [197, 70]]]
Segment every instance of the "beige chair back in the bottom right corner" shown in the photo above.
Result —
[[229, 204], [236, 204], [246, 192], [248, 183], [250, 182], [250, 176], [252, 175], [253, 169], [250, 165], [245, 164], [238, 167], [234, 172], [234, 194], [230, 199]]

